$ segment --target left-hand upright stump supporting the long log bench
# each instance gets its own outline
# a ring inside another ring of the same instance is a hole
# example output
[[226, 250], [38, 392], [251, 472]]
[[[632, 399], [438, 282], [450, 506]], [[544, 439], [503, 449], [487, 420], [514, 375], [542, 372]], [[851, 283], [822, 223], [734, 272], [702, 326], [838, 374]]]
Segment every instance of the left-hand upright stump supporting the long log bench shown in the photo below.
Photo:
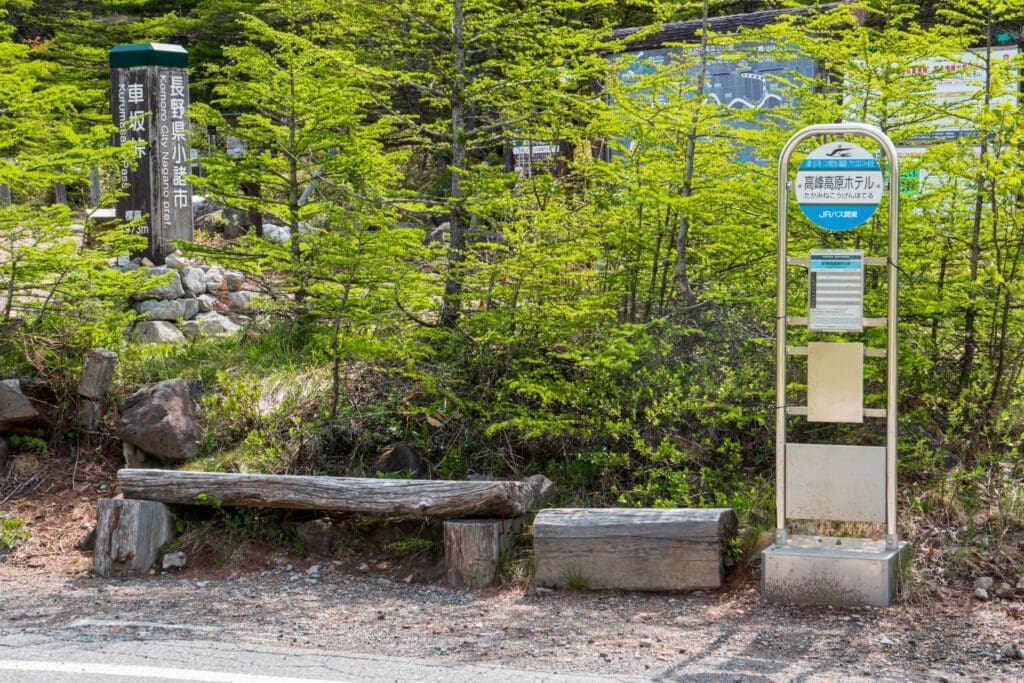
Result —
[[96, 501], [96, 574], [143, 573], [160, 547], [174, 538], [171, 511], [163, 503], [101, 498]]

